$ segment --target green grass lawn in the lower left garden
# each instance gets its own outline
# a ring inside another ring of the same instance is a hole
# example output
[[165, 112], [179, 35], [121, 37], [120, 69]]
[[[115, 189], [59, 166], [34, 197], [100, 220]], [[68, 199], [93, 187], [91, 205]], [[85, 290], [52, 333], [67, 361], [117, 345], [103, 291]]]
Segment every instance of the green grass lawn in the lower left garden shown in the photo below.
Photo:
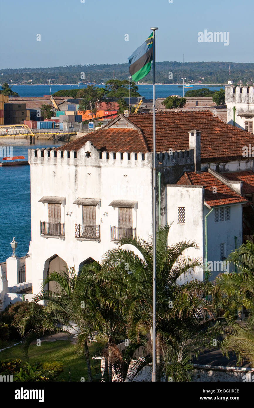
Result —
[[[100, 367], [100, 360], [92, 359], [92, 355], [98, 347], [98, 343], [89, 346], [92, 375], [95, 375], [95, 367]], [[22, 354], [22, 346], [15, 346], [1, 351], [0, 360], [20, 358], [29, 361], [31, 365], [36, 362], [62, 361], [64, 371], [57, 377], [57, 381], [69, 381], [69, 368], [71, 368], [71, 381], [80, 381], [82, 377], [87, 378], [86, 360], [75, 353], [75, 345], [71, 341], [42, 341], [40, 346], [29, 347], [28, 358]]]

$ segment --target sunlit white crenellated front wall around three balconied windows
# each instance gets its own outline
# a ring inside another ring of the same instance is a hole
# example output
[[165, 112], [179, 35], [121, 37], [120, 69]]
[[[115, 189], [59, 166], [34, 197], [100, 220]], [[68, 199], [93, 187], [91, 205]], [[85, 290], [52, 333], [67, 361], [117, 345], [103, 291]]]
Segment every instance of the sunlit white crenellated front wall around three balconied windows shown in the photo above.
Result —
[[[86, 151], [91, 152], [91, 157], [85, 157]], [[134, 153], [127, 159], [120, 160], [120, 153], [109, 153], [106, 160], [106, 152], [99, 159], [99, 152], [87, 142], [74, 159], [57, 158], [51, 151], [51, 157], [34, 156], [34, 151], [29, 151], [31, 166], [31, 236], [32, 236], [32, 271], [33, 293], [41, 290], [45, 262], [53, 255], [60, 256], [69, 266], [79, 265], [84, 260], [92, 257], [100, 262], [102, 255], [108, 249], [116, 247], [110, 241], [110, 226], [118, 226], [118, 208], [109, 206], [112, 200], [137, 201], [137, 209], [133, 209], [133, 227], [137, 226], [137, 235], [148, 239], [152, 233], [152, 170], [151, 154], [135, 160]], [[42, 237], [40, 235], [40, 221], [48, 221], [47, 204], [38, 202], [44, 195], [66, 197], [61, 205], [61, 222], [65, 222], [64, 239], [56, 237]], [[98, 198], [101, 200], [96, 210], [96, 224], [100, 225], [100, 242], [75, 239], [75, 223], [82, 224], [82, 206], [73, 202], [78, 198]], [[72, 212], [71, 216], [66, 215]], [[108, 216], [103, 213], [108, 213]], [[102, 220], [102, 221], [100, 221]], [[47, 262], [46, 262], [47, 266]], [[44, 275], [46, 270], [44, 271]], [[46, 275], [44, 276], [46, 277]]]

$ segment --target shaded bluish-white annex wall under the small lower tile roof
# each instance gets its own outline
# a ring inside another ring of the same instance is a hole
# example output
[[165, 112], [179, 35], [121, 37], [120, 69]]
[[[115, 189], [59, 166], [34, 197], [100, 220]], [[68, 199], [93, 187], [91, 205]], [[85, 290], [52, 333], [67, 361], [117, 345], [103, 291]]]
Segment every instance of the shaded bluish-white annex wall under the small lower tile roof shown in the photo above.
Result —
[[[203, 218], [210, 211], [204, 206]], [[214, 210], [207, 217], [207, 242], [208, 242], [208, 261], [221, 260], [221, 243], [225, 243], [225, 257], [235, 249], [234, 237], [237, 237], [237, 248], [242, 244], [243, 228], [242, 228], [242, 205], [236, 204], [230, 206], [230, 221], [214, 222]], [[204, 233], [205, 246], [205, 233]], [[205, 257], [205, 252], [204, 252]], [[232, 269], [232, 268], [231, 268]], [[230, 269], [230, 271], [231, 271]], [[209, 280], [219, 275], [220, 271], [211, 272]]]

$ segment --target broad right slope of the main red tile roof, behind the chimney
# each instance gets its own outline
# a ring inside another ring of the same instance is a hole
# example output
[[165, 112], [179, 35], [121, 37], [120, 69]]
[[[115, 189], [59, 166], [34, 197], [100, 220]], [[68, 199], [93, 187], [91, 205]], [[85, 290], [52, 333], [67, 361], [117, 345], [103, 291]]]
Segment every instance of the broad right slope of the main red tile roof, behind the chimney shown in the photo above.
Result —
[[[243, 146], [254, 145], [254, 135], [226, 124], [212, 112], [156, 113], [156, 150], [189, 149], [191, 129], [201, 132], [201, 162], [243, 160]], [[130, 115], [128, 119], [144, 134], [152, 151], [152, 113]]]

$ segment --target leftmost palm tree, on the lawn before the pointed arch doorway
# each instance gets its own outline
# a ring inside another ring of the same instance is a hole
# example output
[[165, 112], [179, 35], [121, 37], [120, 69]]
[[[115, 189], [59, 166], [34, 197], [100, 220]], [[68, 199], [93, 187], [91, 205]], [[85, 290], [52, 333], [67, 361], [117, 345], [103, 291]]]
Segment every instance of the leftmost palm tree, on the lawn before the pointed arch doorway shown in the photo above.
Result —
[[[52, 272], [44, 280], [43, 287], [49, 282], [57, 284], [57, 291], [42, 290], [29, 304], [29, 314], [20, 324], [20, 334], [31, 319], [36, 320], [36, 326], [25, 336], [24, 353], [28, 353], [31, 341], [40, 335], [65, 332], [72, 329], [77, 338], [76, 348], [80, 356], [86, 358], [88, 380], [92, 381], [88, 342], [93, 341], [93, 317], [85, 304], [80, 302], [79, 277], [74, 268], [65, 272]], [[44, 302], [40, 309], [35, 308], [38, 302]]]

